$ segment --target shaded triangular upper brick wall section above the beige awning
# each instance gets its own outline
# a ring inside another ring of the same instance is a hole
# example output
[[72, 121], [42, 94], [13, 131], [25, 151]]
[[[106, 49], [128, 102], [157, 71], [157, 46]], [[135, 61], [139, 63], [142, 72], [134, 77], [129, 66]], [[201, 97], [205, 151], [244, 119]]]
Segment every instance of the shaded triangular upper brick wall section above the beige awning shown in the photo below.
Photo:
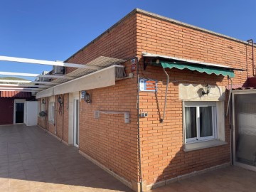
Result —
[[[68, 63], [89, 63], [100, 56], [111, 58], [130, 58], [136, 53], [136, 16], [125, 18], [107, 33], [78, 51], [67, 60]], [[74, 68], [67, 68], [70, 73]]]

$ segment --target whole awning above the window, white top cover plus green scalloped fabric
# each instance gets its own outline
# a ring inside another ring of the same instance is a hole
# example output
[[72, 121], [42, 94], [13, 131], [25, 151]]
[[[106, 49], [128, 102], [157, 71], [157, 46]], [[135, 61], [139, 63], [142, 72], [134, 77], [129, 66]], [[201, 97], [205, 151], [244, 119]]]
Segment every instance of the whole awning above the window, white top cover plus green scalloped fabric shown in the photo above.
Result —
[[[234, 70], [244, 71], [243, 69], [231, 68], [228, 65], [220, 65], [215, 63], [205, 63], [198, 60], [188, 60], [184, 58], [176, 58], [166, 55], [157, 55], [152, 53], [142, 53], [144, 58], [156, 58], [161, 61], [159, 63], [155, 63], [156, 65], [162, 65], [163, 68], [178, 68], [180, 70], [188, 69], [188, 70], [196, 70], [199, 73], [207, 73], [216, 75], [228, 75], [231, 78], [234, 77]], [[147, 63], [144, 62], [144, 68], [146, 68]]]

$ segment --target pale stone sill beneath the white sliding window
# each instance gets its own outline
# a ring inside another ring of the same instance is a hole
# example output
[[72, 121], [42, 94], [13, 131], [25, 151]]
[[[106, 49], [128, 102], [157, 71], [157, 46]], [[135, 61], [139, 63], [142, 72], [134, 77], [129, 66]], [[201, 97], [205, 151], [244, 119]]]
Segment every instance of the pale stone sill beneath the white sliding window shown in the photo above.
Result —
[[193, 143], [193, 144], [184, 144], [183, 151], [194, 151], [194, 150], [198, 150], [198, 149], [206, 149], [209, 147], [220, 146], [220, 145], [224, 145], [224, 144], [228, 144], [228, 143], [217, 140], [217, 139], [206, 141], [206, 142], [197, 142], [197, 143]]

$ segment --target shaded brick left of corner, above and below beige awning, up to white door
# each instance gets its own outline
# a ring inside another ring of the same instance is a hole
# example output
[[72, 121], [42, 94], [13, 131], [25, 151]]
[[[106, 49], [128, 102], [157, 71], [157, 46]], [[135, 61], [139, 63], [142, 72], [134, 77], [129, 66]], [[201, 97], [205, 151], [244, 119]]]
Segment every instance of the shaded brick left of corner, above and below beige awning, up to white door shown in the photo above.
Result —
[[[136, 16], [117, 24], [94, 43], [80, 50], [69, 63], [88, 63], [99, 56], [129, 59], [136, 55]], [[129, 73], [129, 62], [126, 63]], [[68, 68], [70, 73], [73, 68]], [[92, 103], [80, 101], [79, 149], [127, 179], [138, 181], [137, 161], [137, 85], [135, 80], [120, 80], [115, 86], [87, 90]], [[131, 122], [124, 124], [124, 114], [100, 114], [95, 110], [130, 112]]]

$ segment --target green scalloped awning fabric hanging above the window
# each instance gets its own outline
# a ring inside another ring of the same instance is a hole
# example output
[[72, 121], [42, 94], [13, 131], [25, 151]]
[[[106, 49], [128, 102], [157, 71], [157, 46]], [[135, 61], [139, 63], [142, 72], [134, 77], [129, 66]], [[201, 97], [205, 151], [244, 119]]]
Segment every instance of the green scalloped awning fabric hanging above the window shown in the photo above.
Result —
[[177, 68], [179, 70], [188, 69], [188, 70], [196, 70], [199, 73], [207, 73], [207, 74], [215, 74], [215, 75], [223, 75], [230, 76], [230, 78], [235, 77], [235, 73], [233, 70], [228, 68], [218, 68], [208, 65], [194, 65], [194, 64], [184, 64], [184, 63], [161, 63], [163, 68]]

